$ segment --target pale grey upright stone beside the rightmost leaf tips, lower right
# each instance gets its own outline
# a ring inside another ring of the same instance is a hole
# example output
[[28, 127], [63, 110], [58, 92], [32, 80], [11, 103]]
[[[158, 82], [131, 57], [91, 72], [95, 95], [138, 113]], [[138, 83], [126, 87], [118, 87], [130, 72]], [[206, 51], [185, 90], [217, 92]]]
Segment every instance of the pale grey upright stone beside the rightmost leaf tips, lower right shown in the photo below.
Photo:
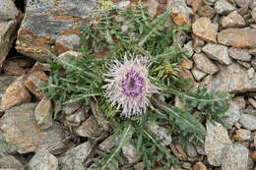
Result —
[[224, 113], [227, 118], [225, 121], [230, 125], [233, 126], [238, 120], [240, 119], [240, 110], [237, 104], [230, 101], [228, 110]]

